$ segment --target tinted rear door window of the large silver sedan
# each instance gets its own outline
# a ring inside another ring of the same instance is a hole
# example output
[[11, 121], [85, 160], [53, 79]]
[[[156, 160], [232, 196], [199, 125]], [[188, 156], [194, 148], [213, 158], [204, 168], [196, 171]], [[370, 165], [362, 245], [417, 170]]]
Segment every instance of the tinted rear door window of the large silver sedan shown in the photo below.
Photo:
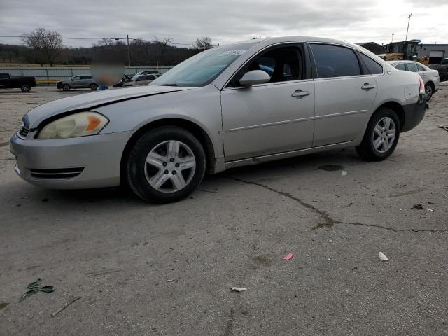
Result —
[[311, 44], [318, 78], [359, 76], [358, 58], [353, 50], [338, 45]]

